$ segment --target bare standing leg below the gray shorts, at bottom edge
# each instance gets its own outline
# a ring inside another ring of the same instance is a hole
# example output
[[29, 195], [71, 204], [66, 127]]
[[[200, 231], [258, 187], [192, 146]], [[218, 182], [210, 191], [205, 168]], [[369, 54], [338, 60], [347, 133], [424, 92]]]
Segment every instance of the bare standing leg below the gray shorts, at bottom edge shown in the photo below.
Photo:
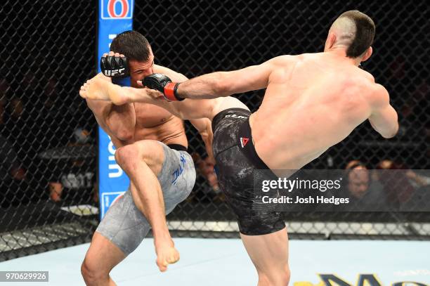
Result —
[[94, 233], [81, 273], [87, 286], [115, 286], [109, 273], [124, 260], [124, 253], [100, 233]]

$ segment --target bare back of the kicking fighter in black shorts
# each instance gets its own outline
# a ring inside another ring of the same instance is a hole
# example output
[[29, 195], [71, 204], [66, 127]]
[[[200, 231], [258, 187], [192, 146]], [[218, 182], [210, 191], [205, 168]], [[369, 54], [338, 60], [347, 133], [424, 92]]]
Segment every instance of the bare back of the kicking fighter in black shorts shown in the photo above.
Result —
[[250, 119], [257, 153], [271, 169], [300, 169], [370, 116], [375, 85], [330, 54], [289, 56]]

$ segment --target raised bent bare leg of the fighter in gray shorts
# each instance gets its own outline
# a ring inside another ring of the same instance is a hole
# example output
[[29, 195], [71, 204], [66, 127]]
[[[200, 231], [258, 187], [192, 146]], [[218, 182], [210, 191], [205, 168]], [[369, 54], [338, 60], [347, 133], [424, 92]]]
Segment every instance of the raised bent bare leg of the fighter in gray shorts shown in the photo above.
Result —
[[152, 227], [157, 266], [160, 271], [166, 271], [169, 264], [179, 260], [179, 253], [167, 228], [162, 189], [156, 176], [162, 169], [164, 150], [157, 141], [138, 141], [119, 148], [115, 158], [129, 175], [136, 207]]

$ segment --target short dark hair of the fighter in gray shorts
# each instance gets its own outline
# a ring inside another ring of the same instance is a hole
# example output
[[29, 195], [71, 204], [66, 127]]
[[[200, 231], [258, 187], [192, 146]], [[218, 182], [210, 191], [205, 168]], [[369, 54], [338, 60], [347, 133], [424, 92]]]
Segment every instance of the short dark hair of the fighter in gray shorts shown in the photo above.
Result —
[[110, 51], [122, 53], [129, 60], [144, 62], [149, 60], [150, 44], [143, 34], [130, 30], [117, 34], [110, 44]]

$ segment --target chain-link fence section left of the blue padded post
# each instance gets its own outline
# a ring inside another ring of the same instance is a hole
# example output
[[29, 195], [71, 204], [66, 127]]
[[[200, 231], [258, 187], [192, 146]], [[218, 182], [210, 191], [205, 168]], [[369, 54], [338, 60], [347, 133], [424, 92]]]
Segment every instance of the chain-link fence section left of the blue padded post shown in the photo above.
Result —
[[96, 122], [77, 91], [96, 63], [96, 9], [0, 7], [0, 260], [91, 238]]

